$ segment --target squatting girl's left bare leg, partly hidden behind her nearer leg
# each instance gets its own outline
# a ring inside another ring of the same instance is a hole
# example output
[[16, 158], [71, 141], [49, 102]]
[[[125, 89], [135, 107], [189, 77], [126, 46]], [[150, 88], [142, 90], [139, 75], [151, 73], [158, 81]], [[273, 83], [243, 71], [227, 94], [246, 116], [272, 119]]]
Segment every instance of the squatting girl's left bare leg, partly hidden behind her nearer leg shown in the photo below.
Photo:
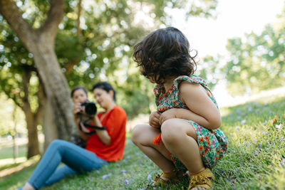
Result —
[[170, 160], [165, 145], [162, 142], [160, 145], [152, 143], [152, 139], [157, 136], [157, 134], [160, 134], [160, 130], [150, 125], [137, 125], [132, 132], [132, 141], [152, 162], [155, 162], [164, 173], [169, 173], [175, 169], [175, 166]]

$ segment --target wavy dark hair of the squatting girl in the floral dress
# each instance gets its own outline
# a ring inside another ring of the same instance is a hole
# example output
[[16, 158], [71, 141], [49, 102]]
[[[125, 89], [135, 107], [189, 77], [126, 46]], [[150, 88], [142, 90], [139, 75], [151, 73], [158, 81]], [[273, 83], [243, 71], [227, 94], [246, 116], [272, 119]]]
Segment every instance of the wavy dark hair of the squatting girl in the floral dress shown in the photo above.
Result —
[[133, 60], [142, 75], [155, 83], [165, 83], [167, 77], [192, 75], [196, 70], [195, 56], [190, 56], [190, 44], [174, 27], [161, 28], [147, 35], [134, 47]]

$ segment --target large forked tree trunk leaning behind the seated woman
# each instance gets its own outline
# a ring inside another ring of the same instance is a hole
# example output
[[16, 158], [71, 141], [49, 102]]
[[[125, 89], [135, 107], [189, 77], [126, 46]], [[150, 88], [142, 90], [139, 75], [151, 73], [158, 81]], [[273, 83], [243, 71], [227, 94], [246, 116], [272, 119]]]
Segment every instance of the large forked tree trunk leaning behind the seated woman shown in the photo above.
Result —
[[58, 137], [69, 139], [72, 129], [75, 129], [70, 90], [54, 51], [54, 41], [58, 24], [63, 19], [63, 9], [63, 0], [51, 0], [46, 21], [41, 28], [35, 30], [22, 18], [13, 0], [0, 0], [0, 13], [28, 51], [33, 53], [46, 97], [51, 102]]

